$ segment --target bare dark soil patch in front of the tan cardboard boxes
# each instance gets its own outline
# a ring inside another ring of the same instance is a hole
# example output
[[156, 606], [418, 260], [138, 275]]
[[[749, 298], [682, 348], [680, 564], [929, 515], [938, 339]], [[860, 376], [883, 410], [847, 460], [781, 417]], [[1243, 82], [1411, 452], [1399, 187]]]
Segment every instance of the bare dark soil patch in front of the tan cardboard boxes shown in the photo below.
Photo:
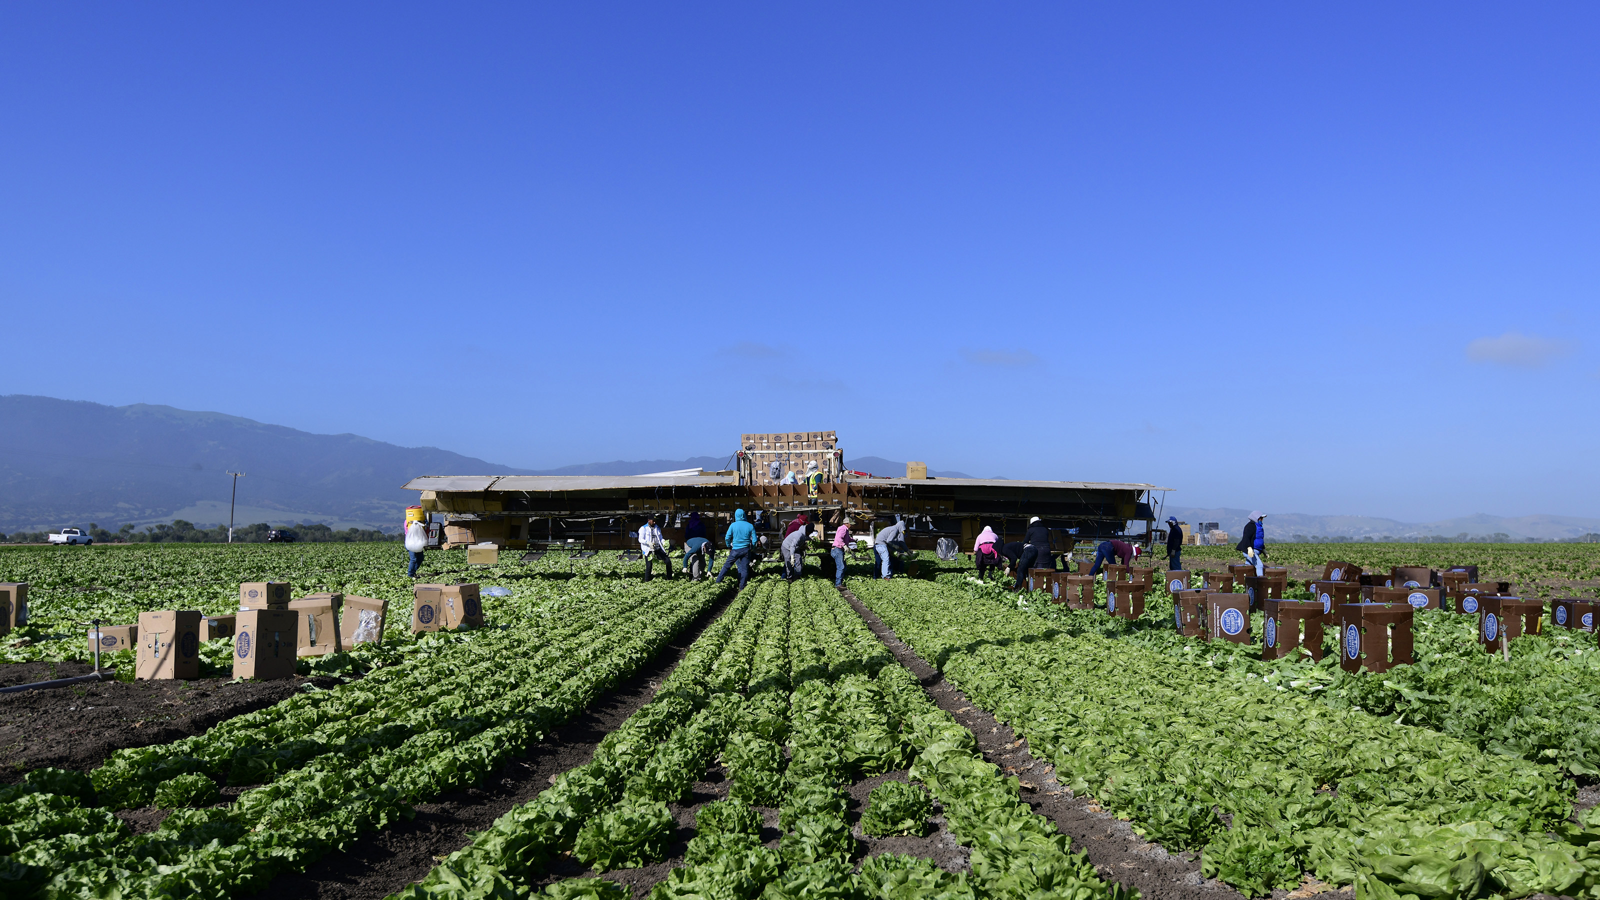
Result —
[[[91, 671], [94, 666], [85, 663], [10, 663], [0, 666], [0, 685]], [[306, 684], [331, 687], [338, 679], [101, 681], [0, 693], [0, 783], [45, 765], [88, 770], [117, 749], [198, 735], [224, 719], [272, 706]]]

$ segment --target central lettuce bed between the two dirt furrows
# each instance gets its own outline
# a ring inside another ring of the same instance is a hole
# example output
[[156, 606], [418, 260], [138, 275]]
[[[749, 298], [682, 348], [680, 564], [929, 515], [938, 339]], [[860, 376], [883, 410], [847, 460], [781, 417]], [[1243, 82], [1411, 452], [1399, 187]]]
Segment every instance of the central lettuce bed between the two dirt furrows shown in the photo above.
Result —
[[[830, 586], [760, 580], [589, 764], [397, 898], [526, 897], [562, 854], [595, 871], [669, 858], [685, 828], [667, 802], [690, 799], [717, 759], [730, 773], [728, 798], [698, 809], [683, 865], [656, 884], [654, 900], [1125, 895], [1019, 799], [1016, 780], [974, 751], [971, 732], [928, 700]], [[914, 783], [875, 788], [862, 828], [920, 834], [938, 801], [952, 834], [971, 847], [970, 873], [899, 854], [874, 855], [856, 871], [843, 788], [907, 764]], [[755, 809], [771, 806], [776, 847]], [[627, 895], [600, 879], [544, 890]]]

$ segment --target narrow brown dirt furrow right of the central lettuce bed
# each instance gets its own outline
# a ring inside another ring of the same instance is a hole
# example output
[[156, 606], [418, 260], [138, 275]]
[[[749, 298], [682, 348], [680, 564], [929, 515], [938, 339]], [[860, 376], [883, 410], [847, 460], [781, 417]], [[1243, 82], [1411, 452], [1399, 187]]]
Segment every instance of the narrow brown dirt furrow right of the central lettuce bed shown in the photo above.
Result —
[[[883, 625], [877, 615], [861, 604], [850, 591], [845, 599], [861, 613], [872, 633], [883, 641], [894, 658], [910, 669], [928, 697], [941, 709], [955, 716], [955, 721], [973, 730], [978, 738], [978, 749], [984, 759], [1005, 769], [1008, 775], [1016, 775], [1022, 783], [1022, 799], [1034, 812], [1056, 823], [1062, 834], [1072, 838], [1078, 850], [1086, 850], [1090, 862], [1107, 881], [1118, 881], [1131, 889], [1138, 889], [1146, 900], [1243, 900], [1243, 895], [1232, 887], [1200, 878], [1200, 855], [1195, 852], [1168, 854], [1157, 844], [1150, 844], [1133, 833], [1126, 822], [1115, 818], [1093, 798], [1074, 798], [1072, 791], [1056, 781], [1053, 765], [1035, 759], [1027, 751], [1027, 741], [997, 721], [987, 711], [974, 706], [960, 690], [944, 681], [944, 676], [923, 661], [915, 650], [894, 636], [894, 631]], [[1350, 900], [1354, 892], [1333, 890], [1307, 879], [1304, 887], [1293, 892], [1278, 890], [1277, 898], [1307, 897], [1322, 894], [1330, 900]]]

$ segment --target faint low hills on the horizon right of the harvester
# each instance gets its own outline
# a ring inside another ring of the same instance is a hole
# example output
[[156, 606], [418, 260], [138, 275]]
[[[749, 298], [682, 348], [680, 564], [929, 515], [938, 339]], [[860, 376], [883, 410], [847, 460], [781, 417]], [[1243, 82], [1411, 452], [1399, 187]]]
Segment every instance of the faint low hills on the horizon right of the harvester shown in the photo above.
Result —
[[[1197, 509], [1192, 506], [1168, 506], [1163, 516], [1176, 516], [1179, 522], [1219, 522], [1222, 530], [1234, 535], [1245, 532], [1245, 520], [1250, 509]], [[1376, 516], [1307, 516], [1304, 512], [1272, 512], [1267, 514], [1267, 538], [1275, 541], [1293, 540], [1294, 535], [1344, 536], [1344, 538], [1427, 538], [1459, 535], [1490, 536], [1506, 535], [1512, 540], [1563, 540], [1582, 535], [1600, 533], [1600, 519], [1581, 519], [1576, 516], [1462, 516], [1459, 519], [1442, 519], [1438, 522], [1400, 522], [1395, 519], [1379, 519]]]

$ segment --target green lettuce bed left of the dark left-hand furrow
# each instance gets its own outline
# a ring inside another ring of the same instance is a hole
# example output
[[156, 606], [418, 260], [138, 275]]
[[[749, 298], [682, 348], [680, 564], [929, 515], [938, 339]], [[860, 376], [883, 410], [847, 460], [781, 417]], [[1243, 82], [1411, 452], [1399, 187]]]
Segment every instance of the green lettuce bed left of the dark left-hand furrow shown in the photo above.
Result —
[[[117, 751], [88, 775], [30, 772], [0, 788], [0, 884], [8, 897], [50, 898], [256, 892], [525, 753], [723, 593], [528, 581], [485, 601], [491, 628], [408, 642], [406, 665], [198, 737]], [[147, 834], [115, 815], [157, 799], [203, 802], [219, 781], [248, 790], [227, 806], [174, 810]]]

